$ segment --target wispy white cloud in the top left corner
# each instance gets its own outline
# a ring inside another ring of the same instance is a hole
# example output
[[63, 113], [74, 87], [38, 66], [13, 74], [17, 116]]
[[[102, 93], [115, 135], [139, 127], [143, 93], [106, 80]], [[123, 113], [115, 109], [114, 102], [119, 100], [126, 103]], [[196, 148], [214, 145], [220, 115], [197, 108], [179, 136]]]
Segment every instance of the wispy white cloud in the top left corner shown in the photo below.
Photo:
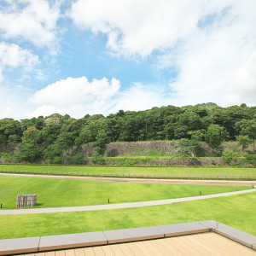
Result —
[[[58, 4], [45, 0], [14, 0], [0, 9], [0, 32], [5, 39], [23, 38], [37, 46], [55, 45]], [[53, 45], [54, 44], [54, 45]]]

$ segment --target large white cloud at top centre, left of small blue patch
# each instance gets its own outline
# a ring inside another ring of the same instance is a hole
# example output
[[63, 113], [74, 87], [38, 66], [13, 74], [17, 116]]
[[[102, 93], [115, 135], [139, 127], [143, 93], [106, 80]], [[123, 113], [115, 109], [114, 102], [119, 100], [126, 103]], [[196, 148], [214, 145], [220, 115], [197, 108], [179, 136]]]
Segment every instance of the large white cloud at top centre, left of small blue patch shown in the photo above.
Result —
[[146, 56], [188, 37], [198, 12], [200, 5], [193, 1], [79, 0], [69, 16], [81, 29], [107, 34], [111, 49]]

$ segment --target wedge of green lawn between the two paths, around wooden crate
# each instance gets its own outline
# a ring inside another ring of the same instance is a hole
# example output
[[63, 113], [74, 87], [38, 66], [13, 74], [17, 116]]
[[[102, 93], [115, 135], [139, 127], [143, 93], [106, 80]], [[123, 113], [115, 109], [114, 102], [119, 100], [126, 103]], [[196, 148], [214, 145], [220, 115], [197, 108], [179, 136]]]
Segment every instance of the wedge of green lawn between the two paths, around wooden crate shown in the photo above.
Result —
[[45, 177], [0, 176], [0, 203], [15, 208], [19, 194], [37, 194], [37, 207], [71, 207], [211, 195], [251, 187], [120, 183]]

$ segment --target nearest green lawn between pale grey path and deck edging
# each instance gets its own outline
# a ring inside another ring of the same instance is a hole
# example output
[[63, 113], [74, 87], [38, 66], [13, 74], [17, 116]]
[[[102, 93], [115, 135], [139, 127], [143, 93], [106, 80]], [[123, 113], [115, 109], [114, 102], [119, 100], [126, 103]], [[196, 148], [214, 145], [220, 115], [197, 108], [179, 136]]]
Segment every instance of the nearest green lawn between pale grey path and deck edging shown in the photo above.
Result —
[[0, 239], [214, 219], [256, 236], [256, 193], [157, 207], [0, 216]]

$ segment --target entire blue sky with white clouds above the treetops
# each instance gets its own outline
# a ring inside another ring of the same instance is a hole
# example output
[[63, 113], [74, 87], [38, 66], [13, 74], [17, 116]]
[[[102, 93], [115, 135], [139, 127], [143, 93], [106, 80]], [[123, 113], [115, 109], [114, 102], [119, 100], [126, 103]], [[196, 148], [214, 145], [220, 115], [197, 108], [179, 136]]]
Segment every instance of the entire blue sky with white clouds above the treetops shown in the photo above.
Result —
[[0, 119], [256, 106], [255, 0], [1, 0]]

